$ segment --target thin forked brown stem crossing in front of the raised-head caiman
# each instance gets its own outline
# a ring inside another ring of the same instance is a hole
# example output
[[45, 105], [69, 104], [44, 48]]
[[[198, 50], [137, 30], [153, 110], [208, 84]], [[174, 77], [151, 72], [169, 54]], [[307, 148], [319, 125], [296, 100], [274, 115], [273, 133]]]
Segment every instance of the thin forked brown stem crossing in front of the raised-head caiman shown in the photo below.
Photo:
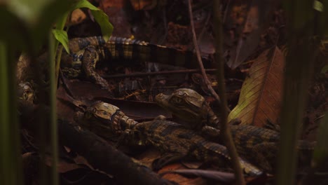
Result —
[[220, 1], [214, 1], [213, 17], [214, 17], [214, 32], [216, 33], [215, 58], [219, 62], [219, 65], [218, 65], [219, 79], [218, 80], [219, 80], [219, 93], [222, 98], [222, 101], [220, 101], [219, 96], [217, 95], [217, 93], [215, 93], [212, 86], [210, 85], [210, 81], [208, 80], [208, 78], [205, 74], [202, 60], [200, 59], [200, 51], [199, 51], [198, 43], [197, 43], [197, 39], [196, 39], [195, 28], [193, 26], [193, 13], [191, 11], [191, 0], [189, 0], [188, 7], [189, 7], [190, 22], [191, 22], [191, 31], [193, 33], [193, 43], [195, 45], [198, 63], [200, 65], [200, 69], [202, 71], [204, 81], [207, 85], [207, 88], [210, 90], [210, 92], [215, 97], [217, 102], [219, 102], [219, 104], [221, 105], [221, 114], [222, 114], [221, 115], [221, 121], [222, 121], [221, 133], [222, 133], [224, 142], [226, 144], [226, 148], [228, 149], [228, 153], [231, 156], [231, 161], [232, 161], [232, 165], [233, 165], [233, 170], [235, 171], [236, 181], [238, 184], [245, 184], [245, 179], [243, 177], [242, 170], [240, 168], [240, 163], [238, 160], [238, 153], [235, 149], [235, 144], [233, 144], [230, 128], [228, 127], [228, 123], [227, 123], [228, 108], [226, 108], [226, 94], [225, 94], [226, 90], [225, 90], [225, 86], [224, 86], [224, 62], [223, 62], [223, 60], [221, 60], [221, 56], [222, 56], [221, 55], [221, 53], [222, 53], [222, 46], [221, 46], [222, 45], [222, 36], [221, 35], [222, 35], [222, 33], [221, 33], [221, 14], [219, 11], [219, 5], [220, 5]]

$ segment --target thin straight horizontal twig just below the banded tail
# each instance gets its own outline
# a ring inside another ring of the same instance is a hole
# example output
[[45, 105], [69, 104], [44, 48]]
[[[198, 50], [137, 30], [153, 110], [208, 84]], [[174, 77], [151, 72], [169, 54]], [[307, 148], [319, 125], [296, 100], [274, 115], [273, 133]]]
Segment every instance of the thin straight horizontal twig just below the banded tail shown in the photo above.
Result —
[[[205, 69], [207, 72], [214, 72], [217, 69]], [[103, 78], [126, 78], [126, 77], [137, 77], [137, 76], [153, 76], [153, 75], [165, 75], [165, 74], [186, 74], [186, 73], [196, 73], [199, 69], [184, 69], [175, 71], [158, 71], [158, 72], [148, 72], [148, 73], [132, 73], [132, 74], [112, 74], [103, 75]]]

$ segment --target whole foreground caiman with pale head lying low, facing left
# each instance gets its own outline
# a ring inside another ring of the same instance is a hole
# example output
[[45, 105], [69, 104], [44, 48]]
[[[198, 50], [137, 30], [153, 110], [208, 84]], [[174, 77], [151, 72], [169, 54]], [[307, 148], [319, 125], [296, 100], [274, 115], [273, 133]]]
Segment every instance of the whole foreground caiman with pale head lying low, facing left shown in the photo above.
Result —
[[[112, 137], [108, 136], [109, 133], [127, 134], [130, 137], [128, 142], [156, 146], [165, 153], [165, 156], [156, 160], [153, 164], [155, 169], [187, 156], [206, 162], [230, 162], [225, 146], [207, 141], [196, 132], [178, 123], [159, 118], [138, 123], [125, 116], [118, 107], [104, 102], [91, 106], [84, 115], [78, 118], [83, 120], [82, 122], [88, 129], [92, 128], [91, 130], [95, 130], [97, 134], [100, 133], [102, 137]], [[81, 123], [81, 121], [78, 122]], [[247, 174], [261, 174], [261, 170], [246, 160], [240, 158], [240, 163]]]

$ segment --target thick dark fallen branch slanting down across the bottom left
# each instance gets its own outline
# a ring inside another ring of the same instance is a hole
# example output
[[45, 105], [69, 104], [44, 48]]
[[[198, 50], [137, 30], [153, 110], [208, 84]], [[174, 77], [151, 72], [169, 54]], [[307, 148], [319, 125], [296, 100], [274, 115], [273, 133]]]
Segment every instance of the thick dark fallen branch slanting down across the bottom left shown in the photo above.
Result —
[[[20, 102], [19, 111], [22, 127], [34, 133], [39, 127], [34, 121], [35, 116], [40, 112], [46, 117], [49, 116], [48, 107], [34, 106], [26, 102]], [[43, 124], [46, 128], [50, 126], [48, 123]], [[173, 184], [171, 181], [160, 179], [148, 167], [133, 163], [131, 158], [114, 149], [93, 132], [60, 119], [57, 127], [60, 144], [86, 158], [95, 169], [114, 175], [118, 184]]]

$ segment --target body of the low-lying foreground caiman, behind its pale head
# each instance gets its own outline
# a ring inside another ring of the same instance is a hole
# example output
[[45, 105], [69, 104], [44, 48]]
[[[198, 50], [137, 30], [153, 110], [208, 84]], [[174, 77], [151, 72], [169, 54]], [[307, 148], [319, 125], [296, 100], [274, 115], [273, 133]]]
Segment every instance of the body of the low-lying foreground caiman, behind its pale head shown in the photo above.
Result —
[[[150, 143], [165, 156], [156, 161], [155, 168], [159, 169], [174, 160], [189, 156], [210, 163], [230, 163], [230, 156], [225, 146], [210, 142], [196, 132], [186, 129], [183, 125], [172, 121], [154, 120], [135, 125], [132, 130], [137, 132], [142, 143]], [[250, 175], [259, 175], [259, 170], [246, 160], [239, 158], [242, 170]]]

